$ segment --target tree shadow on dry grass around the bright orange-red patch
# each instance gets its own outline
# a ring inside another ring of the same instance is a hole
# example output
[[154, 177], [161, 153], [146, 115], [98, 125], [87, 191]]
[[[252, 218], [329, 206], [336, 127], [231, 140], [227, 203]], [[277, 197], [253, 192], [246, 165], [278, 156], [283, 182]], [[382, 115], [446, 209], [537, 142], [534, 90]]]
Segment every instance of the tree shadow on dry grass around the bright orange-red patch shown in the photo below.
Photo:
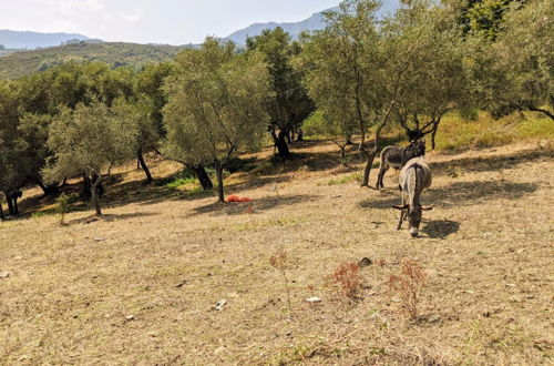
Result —
[[[264, 197], [254, 202], [245, 203], [211, 203], [193, 210], [193, 214], [211, 214], [214, 216], [219, 215], [242, 215], [242, 214], [256, 214], [264, 211], [273, 210], [283, 205], [296, 205], [306, 202], [311, 202], [320, 196], [310, 194], [299, 194], [290, 196], [274, 196]], [[252, 207], [252, 209], [250, 209]]]

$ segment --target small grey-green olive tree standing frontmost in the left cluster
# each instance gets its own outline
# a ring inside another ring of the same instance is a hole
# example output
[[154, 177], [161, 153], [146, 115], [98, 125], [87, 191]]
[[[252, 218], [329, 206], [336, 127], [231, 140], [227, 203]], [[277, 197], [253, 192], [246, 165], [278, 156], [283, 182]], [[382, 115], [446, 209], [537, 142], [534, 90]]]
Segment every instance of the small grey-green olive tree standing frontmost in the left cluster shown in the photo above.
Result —
[[103, 103], [63, 108], [50, 125], [48, 146], [53, 152], [43, 175], [47, 182], [84, 174], [91, 182], [91, 199], [102, 214], [99, 186], [102, 174], [135, 155], [136, 130], [129, 114]]

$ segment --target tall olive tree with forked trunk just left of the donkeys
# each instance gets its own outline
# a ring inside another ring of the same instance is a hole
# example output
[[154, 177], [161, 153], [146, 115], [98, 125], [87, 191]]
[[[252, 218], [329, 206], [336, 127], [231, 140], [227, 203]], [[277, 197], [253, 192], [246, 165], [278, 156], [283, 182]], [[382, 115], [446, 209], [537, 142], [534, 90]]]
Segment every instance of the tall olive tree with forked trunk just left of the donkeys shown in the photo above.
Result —
[[[327, 28], [308, 35], [297, 68], [307, 69], [309, 96], [331, 121], [352, 118], [361, 136], [359, 150], [367, 159], [362, 185], [378, 152], [380, 132], [394, 105], [396, 80], [389, 79], [388, 48], [379, 31], [375, 0], [348, 0], [337, 12], [325, 13]], [[372, 150], [367, 134], [375, 128]]]

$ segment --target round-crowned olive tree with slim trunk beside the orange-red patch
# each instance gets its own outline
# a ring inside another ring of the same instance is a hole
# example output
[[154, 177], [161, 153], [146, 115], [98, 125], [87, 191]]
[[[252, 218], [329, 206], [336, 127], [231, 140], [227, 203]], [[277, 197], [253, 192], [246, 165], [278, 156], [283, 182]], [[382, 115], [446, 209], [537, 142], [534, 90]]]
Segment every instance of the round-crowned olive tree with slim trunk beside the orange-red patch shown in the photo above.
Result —
[[267, 64], [257, 52], [237, 54], [233, 43], [211, 38], [175, 62], [164, 87], [164, 154], [185, 164], [213, 163], [224, 202], [225, 164], [242, 149], [258, 145], [269, 122]]

